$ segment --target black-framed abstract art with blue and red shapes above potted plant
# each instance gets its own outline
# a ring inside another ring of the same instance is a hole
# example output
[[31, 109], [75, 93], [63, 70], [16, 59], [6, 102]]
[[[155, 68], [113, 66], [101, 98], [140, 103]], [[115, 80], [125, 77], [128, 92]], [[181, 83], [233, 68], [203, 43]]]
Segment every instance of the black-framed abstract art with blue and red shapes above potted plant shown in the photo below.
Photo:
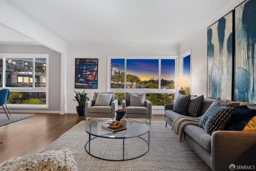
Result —
[[75, 60], [75, 88], [98, 88], [98, 59]]

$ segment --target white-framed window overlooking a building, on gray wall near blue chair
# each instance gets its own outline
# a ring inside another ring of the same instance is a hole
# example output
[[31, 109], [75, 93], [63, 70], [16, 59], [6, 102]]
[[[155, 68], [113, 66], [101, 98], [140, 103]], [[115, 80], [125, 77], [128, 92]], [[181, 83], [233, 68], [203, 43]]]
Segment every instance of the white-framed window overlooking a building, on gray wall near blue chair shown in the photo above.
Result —
[[0, 86], [12, 107], [48, 108], [48, 54], [0, 54]]

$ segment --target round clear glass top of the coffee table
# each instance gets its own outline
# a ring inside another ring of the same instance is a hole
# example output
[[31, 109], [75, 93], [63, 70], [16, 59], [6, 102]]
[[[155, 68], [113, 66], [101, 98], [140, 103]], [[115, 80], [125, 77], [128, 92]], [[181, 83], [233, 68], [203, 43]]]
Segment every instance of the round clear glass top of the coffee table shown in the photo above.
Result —
[[85, 127], [85, 131], [90, 135], [104, 138], [132, 138], [139, 137], [148, 133], [149, 127], [146, 123], [127, 119], [126, 130], [112, 133], [104, 128], [102, 125], [106, 125], [108, 122], [112, 122], [111, 119], [94, 121]]

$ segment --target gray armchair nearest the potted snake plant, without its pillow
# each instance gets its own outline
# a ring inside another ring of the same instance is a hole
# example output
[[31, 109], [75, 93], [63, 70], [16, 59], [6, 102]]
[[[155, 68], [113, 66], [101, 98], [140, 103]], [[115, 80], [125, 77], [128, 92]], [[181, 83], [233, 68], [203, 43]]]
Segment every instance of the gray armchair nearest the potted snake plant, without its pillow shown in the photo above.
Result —
[[114, 92], [100, 92], [113, 94], [109, 105], [95, 105], [98, 92], [94, 92], [93, 99], [86, 101], [85, 117], [104, 117], [114, 118], [116, 115], [115, 110], [117, 109], [117, 96]]

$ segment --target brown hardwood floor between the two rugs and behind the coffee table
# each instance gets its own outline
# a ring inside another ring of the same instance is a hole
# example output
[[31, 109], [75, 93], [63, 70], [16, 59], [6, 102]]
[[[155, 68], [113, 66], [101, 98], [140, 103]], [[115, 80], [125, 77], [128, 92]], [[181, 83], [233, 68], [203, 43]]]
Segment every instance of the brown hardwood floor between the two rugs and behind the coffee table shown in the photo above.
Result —
[[[88, 118], [100, 120], [104, 118]], [[36, 113], [35, 116], [0, 127], [0, 163], [23, 155], [38, 153], [78, 122], [77, 114]], [[145, 119], [135, 119], [145, 121]], [[152, 122], [164, 122], [164, 115], [152, 115]]]

